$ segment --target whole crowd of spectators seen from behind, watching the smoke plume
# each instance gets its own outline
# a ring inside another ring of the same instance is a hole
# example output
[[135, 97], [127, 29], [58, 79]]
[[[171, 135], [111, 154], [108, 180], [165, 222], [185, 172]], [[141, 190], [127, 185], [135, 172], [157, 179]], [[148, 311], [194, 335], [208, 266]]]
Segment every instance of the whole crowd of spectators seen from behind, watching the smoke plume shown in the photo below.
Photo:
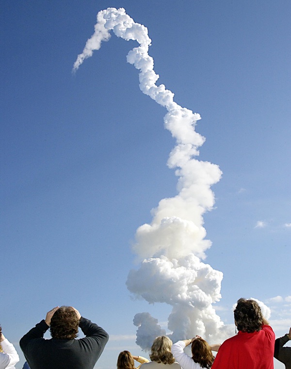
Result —
[[[199, 336], [173, 344], [169, 337], [160, 336], [153, 341], [150, 361], [122, 351], [117, 369], [274, 369], [273, 357], [291, 369], [291, 347], [284, 347], [291, 339], [291, 328], [275, 339], [259, 304], [252, 299], [238, 300], [234, 321], [238, 333], [222, 344], [210, 345]], [[85, 337], [77, 339], [79, 327]], [[51, 338], [45, 339], [48, 329]], [[26, 358], [23, 369], [93, 369], [108, 339], [103, 328], [81, 317], [74, 307], [54, 307], [20, 339]], [[190, 345], [191, 356], [184, 352]], [[0, 369], [15, 369], [18, 361], [16, 349], [0, 327]], [[140, 364], [137, 368], [134, 361]]]

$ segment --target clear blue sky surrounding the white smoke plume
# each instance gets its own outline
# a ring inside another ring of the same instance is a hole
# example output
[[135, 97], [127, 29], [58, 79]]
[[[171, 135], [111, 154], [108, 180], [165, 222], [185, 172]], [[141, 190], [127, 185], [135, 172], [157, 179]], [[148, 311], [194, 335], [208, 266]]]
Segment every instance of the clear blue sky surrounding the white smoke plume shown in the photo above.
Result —
[[[217, 314], [255, 297], [277, 336], [291, 326], [290, 3], [5, 1], [1, 4], [1, 325], [13, 342], [55, 305], [111, 335], [100, 368], [135, 345], [134, 315], [166, 324], [169, 305], [126, 287], [150, 210], [175, 196], [165, 108], [126, 63], [114, 34], [76, 74], [97, 12], [123, 7], [148, 29], [149, 55], [174, 100], [201, 114], [199, 160], [218, 164], [204, 215], [205, 263], [224, 273]], [[3, 304], [4, 302], [4, 304]], [[166, 328], [166, 327], [164, 327]], [[195, 332], [194, 332], [195, 335]], [[16, 368], [21, 368], [23, 357]], [[276, 363], [276, 368], [282, 368]]]

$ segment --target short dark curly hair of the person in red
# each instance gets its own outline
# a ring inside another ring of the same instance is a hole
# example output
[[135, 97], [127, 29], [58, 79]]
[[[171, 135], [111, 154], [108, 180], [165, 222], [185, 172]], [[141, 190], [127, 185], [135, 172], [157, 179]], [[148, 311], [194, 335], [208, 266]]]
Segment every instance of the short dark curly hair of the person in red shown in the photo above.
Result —
[[259, 332], [263, 324], [263, 315], [257, 301], [239, 299], [234, 310], [234, 320], [239, 331]]

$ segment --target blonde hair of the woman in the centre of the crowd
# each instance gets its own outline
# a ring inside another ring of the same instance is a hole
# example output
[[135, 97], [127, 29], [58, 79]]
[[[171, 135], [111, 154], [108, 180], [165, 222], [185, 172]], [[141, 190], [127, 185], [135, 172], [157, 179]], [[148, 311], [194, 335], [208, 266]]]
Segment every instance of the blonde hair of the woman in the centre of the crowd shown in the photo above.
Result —
[[169, 337], [159, 336], [157, 337], [151, 347], [149, 358], [151, 361], [163, 364], [173, 364], [175, 359], [171, 353], [171, 347], [173, 342]]

